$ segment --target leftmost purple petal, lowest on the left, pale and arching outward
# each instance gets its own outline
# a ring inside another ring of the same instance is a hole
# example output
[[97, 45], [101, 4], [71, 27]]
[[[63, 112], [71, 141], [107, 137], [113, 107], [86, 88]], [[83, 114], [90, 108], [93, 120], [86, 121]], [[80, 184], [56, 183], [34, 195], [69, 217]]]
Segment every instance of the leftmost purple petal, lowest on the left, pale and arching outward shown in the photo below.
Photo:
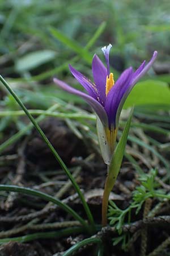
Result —
[[87, 101], [87, 103], [90, 104], [91, 107], [94, 109], [94, 111], [100, 118], [103, 125], [108, 126], [107, 113], [105, 112], [103, 106], [98, 101], [96, 101], [93, 97], [89, 96], [88, 94], [80, 92], [80, 90], [74, 89], [73, 87], [67, 85], [65, 82], [63, 82], [59, 79], [54, 78], [53, 81], [55, 82], [55, 84], [57, 84], [63, 90], [66, 90], [69, 93], [78, 95], [78, 96], [82, 97], [85, 101]]

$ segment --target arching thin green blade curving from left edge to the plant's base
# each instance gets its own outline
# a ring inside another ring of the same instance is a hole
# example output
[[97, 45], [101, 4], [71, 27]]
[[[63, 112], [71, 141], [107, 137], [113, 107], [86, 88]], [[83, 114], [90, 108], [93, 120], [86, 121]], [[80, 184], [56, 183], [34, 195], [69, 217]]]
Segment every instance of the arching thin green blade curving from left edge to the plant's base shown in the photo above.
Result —
[[66, 210], [66, 212], [70, 213], [75, 218], [75, 220], [78, 220], [84, 227], [86, 227], [88, 229], [88, 225], [87, 225], [86, 221], [84, 221], [83, 218], [79, 216], [79, 214], [77, 214], [68, 205], [66, 205], [65, 203], [62, 203], [60, 200], [54, 198], [53, 196], [50, 196], [46, 193], [42, 193], [40, 191], [36, 191], [35, 189], [18, 187], [15, 185], [0, 185], [0, 191], [20, 192], [20, 193], [24, 193], [26, 195], [37, 196], [46, 201], [57, 204], [63, 210]]

